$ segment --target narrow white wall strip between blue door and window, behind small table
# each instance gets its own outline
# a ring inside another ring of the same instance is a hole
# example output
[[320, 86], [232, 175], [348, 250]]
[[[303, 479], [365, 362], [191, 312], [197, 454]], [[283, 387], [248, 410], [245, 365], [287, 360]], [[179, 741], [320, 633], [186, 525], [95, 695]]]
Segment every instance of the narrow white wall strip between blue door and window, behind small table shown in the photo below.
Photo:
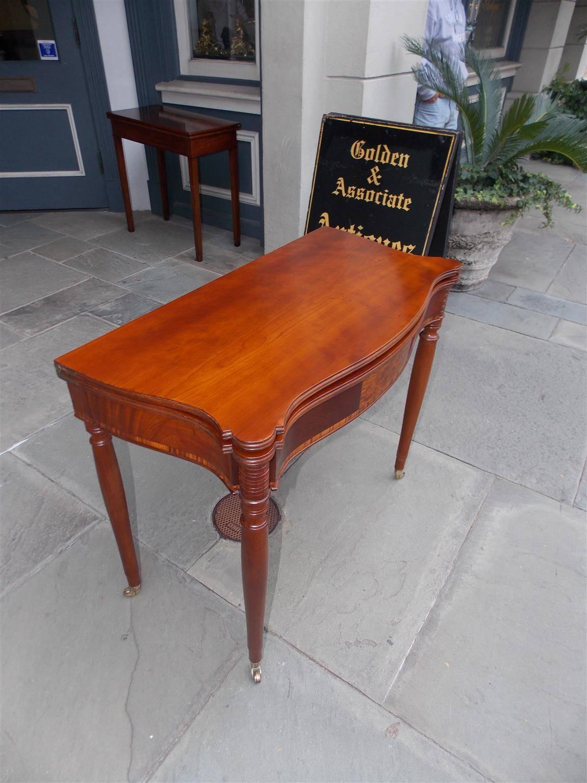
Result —
[[[100, 49], [110, 107], [130, 109], [139, 105], [136, 94], [135, 71], [132, 67], [131, 44], [128, 39], [128, 24], [124, 0], [93, 0], [95, 20], [98, 25]], [[150, 210], [149, 172], [147, 171], [145, 147], [124, 139], [124, 157], [131, 189], [132, 207], [135, 210]]]

